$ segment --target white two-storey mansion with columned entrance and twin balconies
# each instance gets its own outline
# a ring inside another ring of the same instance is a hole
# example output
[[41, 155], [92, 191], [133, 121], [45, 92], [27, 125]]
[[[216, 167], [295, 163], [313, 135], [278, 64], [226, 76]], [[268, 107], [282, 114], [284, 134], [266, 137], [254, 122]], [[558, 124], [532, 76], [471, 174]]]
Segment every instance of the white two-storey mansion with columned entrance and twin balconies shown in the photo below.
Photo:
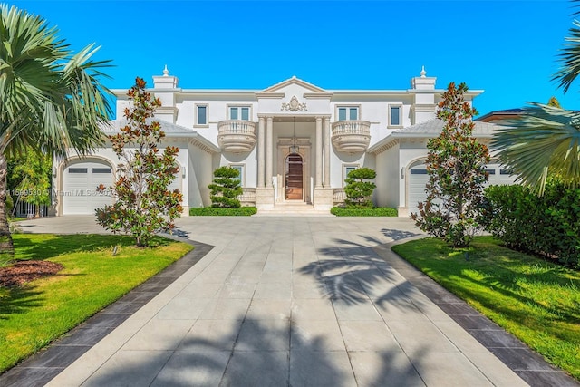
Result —
[[[343, 201], [347, 173], [368, 167], [377, 172], [374, 204], [404, 217], [425, 197], [426, 143], [442, 128], [435, 111], [443, 90], [435, 81], [423, 70], [407, 90], [324, 90], [296, 77], [265, 90], [199, 90], [179, 88], [166, 67], [150, 92], [162, 102], [156, 119], [166, 143], [179, 147], [172, 186], [183, 193], [184, 215], [211, 205], [208, 184], [221, 166], [239, 170], [243, 205], [258, 213], [328, 211]], [[126, 90], [113, 92], [117, 119], [108, 131], [124, 125], [128, 106]], [[476, 121], [475, 135], [488, 141], [495, 127]], [[95, 189], [112, 185], [117, 162], [105, 147], [55, 165], [57, 215], [92, 214], [110, 202]], [[490, 183], [513, 180], [498, 164], [488, 170]]]

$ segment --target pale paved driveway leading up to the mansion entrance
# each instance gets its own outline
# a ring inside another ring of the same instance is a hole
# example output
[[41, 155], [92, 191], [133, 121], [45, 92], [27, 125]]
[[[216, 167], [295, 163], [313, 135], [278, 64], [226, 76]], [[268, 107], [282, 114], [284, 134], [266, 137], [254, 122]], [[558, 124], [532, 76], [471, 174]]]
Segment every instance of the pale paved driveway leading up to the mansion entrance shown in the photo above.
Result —
[[[401, 218], [182, 218], [214, 248], [53, 386], [526, 385], [383, 257]], [[98, 232], [92, 217], [24, 222]]]

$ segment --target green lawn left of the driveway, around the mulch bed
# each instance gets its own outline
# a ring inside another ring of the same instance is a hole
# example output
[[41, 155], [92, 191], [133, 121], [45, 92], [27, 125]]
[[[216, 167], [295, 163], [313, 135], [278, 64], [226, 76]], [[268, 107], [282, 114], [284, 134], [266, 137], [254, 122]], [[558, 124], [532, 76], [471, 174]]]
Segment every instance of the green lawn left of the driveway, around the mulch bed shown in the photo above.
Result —
[[[63, 264], [56, 276], [0, 287], [0, 372], [51, 343], [92, 314], [184, 256], [191, 246], [156, 237], [157, 246], [102, 235], [14, 234], [16, 259]], [[112, 255], [113, 247], [117, 254]]]

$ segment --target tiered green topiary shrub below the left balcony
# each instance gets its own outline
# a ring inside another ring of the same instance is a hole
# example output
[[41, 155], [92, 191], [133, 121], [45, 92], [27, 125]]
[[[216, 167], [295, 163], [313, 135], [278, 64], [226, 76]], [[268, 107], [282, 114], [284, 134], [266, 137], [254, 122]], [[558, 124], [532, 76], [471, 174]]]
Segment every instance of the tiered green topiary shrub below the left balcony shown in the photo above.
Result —
[[243, 193], [239, 186], [239, 171], [234, 168], [220, 167], [214, 170], [214, 181], [208, 185], [210, 189], [211, 207], [240, 208], [237, 197]]

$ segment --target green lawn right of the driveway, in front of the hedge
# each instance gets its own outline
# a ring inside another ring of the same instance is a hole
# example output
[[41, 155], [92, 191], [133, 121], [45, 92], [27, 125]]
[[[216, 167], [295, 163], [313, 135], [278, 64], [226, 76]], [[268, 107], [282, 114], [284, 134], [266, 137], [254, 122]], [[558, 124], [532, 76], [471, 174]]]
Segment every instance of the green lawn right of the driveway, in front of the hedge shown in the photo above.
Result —
[[501, 247], [493, 237], [476, 237], [469, 249], [434, 238], [392, 249], [580, 380], [580, 272]]

